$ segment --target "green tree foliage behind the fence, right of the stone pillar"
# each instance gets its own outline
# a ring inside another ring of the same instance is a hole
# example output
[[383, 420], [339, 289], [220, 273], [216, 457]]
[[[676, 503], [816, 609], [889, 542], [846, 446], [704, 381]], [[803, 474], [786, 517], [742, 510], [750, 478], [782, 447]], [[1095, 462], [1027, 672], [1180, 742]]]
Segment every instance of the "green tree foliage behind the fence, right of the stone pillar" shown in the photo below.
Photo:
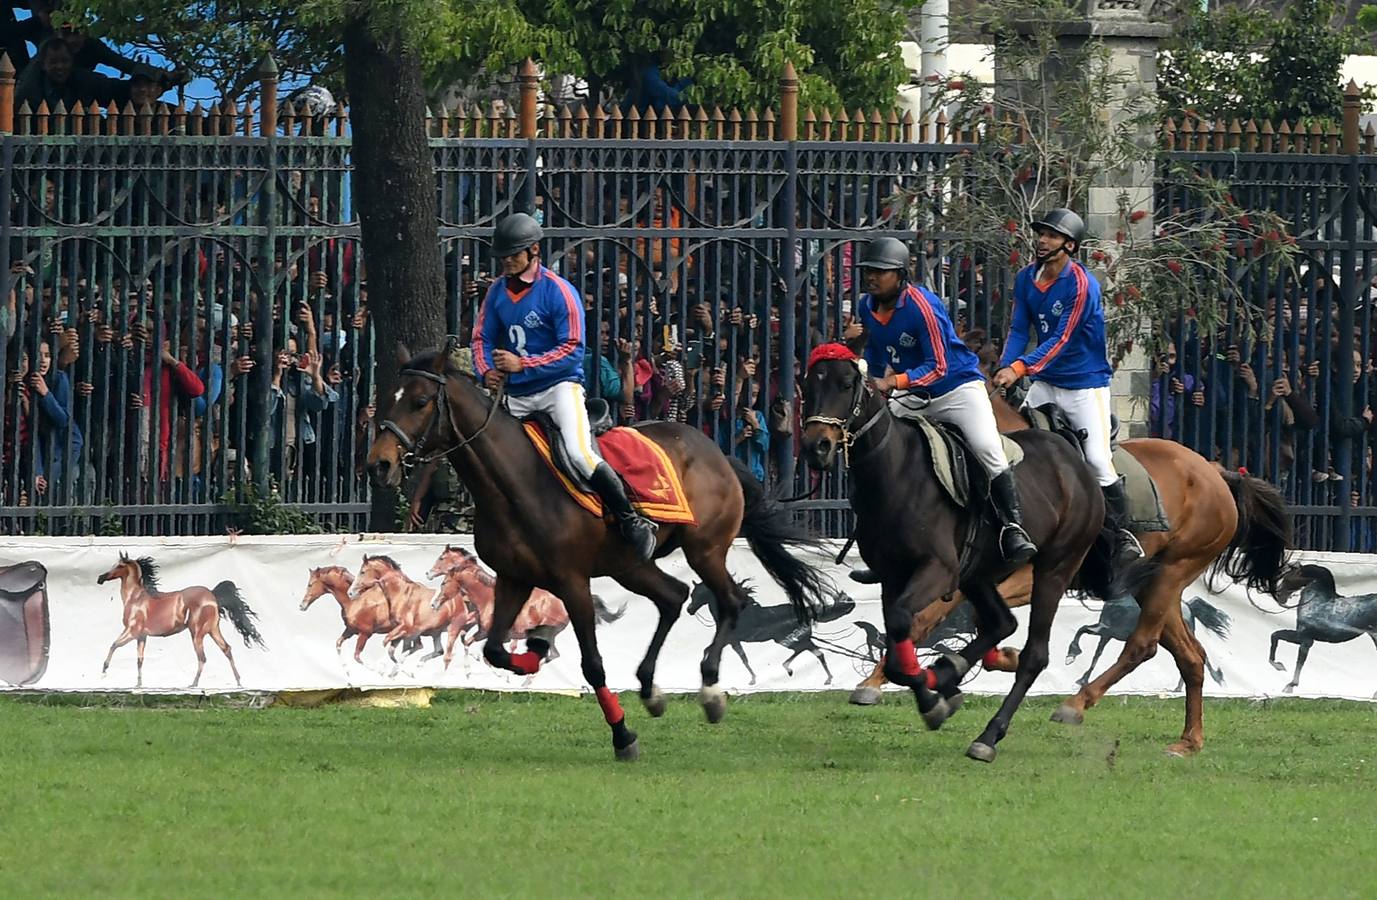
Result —
[[1212, 121], [1338, 120], [1344, 58], [1359, 52], [1356, 32], [1332, 25], [1340, 12], [1334, 0], [1296, 0], [1281, 18], [1184, 7], [1177, 34], [1158, 54], [1165, 113]]

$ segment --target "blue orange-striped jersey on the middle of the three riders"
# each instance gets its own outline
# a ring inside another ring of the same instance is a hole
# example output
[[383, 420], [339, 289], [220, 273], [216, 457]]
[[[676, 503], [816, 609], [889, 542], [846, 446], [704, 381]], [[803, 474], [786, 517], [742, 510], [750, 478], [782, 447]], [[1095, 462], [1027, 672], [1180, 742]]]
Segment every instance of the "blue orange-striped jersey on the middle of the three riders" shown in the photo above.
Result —
[[866, 329], [865, 362], [872, 378], [894, 369], [898, 387], [942, 396], [967, 381], [979, 381], [980, 359], [967, 347], [946, 307], [927, 288], [905, 285], [888, 312], [874, 311], [874, 299], [861, 294]]

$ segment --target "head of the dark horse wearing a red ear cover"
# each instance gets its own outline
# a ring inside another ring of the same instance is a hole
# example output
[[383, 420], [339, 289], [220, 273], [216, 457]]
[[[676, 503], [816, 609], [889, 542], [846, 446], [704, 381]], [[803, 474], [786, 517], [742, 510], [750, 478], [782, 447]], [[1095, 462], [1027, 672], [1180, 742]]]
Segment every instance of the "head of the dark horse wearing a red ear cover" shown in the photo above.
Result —
[[[803, 378], [803, 433], [799, 451], [814, 469], [829, 469], [876, 405], [862, 363], [845, 344], [822, 344]], [[883, 406], [880, 410], [883, 411]]]

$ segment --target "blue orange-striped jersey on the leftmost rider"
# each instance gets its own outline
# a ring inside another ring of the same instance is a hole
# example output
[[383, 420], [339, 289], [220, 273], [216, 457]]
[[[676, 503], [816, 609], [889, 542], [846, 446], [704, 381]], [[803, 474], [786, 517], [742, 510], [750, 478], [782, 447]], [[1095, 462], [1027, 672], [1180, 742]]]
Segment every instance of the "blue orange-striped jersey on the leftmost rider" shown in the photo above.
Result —
[[530, 396], [560, 381], [584, 380], [584, 304], [573, 285], [544, 266], [521, 292], [500, 278], [487, 289], [474, 325], [474, 366], [482, 377], [493, 351], [522, 358], [525, 367], [507, 377], [507, 392]]

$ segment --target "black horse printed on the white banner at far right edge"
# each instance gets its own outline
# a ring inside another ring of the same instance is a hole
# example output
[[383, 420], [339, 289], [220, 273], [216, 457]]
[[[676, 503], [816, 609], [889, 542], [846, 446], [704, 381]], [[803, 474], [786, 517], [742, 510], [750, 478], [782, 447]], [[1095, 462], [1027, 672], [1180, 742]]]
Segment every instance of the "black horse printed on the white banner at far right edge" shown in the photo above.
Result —
[[1293, 593], [1296, 600], [1296, 628], [1272, 632], [1272, 650], [1267, 661], [1278, 672], [1286, 666], [1276, 661], [1278, 641], [1296, 644], [1296, 674], [1282, 691], [1290, 694], [1300, 684], [1300, 670], [1315, 641], [1344, 644], [1362, 634], [1377, 644], [1377, 594], [1366, 593], [1343, 597], [1334, 583], [1334, 572], [1323, 566], [1301, 566], [1282, 579], [1276, 603], [1286, 606]]

